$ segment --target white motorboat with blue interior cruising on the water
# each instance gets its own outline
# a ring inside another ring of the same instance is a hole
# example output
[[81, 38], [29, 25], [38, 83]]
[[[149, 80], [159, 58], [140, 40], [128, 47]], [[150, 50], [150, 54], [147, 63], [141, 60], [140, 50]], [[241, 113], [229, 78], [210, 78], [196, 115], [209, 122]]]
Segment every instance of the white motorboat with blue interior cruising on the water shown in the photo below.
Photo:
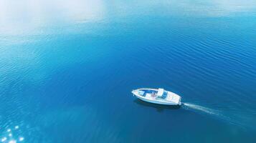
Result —
[[181, 97], [164, 89], [136, 89], [133, 96], [145, 102], [165, 105], [181, 105]]

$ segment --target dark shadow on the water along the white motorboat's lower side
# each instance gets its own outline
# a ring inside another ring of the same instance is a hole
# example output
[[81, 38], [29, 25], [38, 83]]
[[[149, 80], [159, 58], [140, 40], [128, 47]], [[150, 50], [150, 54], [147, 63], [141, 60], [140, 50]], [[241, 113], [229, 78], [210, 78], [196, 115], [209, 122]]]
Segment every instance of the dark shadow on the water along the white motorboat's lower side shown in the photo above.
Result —
[[133, 102], [145, 107], [153, 107], [157, 112], [163, 112], [164, 109], [180, 109], [181, 106], [172, 106], [172, 105], [161, 105], [161, 104], [153, 104], [149, 102], [143, 102], [140, 99], [135, 99]]

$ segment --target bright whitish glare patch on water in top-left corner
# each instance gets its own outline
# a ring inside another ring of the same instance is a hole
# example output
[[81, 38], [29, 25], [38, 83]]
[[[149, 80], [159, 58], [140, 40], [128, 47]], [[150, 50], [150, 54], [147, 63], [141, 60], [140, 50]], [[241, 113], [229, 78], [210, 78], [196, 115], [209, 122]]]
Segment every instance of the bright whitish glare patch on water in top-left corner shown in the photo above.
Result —
[[0, 33], [38, 34], [43, 26], [60, 22], [98, 21], [105, 14], [103, 1], [0, 1]]

